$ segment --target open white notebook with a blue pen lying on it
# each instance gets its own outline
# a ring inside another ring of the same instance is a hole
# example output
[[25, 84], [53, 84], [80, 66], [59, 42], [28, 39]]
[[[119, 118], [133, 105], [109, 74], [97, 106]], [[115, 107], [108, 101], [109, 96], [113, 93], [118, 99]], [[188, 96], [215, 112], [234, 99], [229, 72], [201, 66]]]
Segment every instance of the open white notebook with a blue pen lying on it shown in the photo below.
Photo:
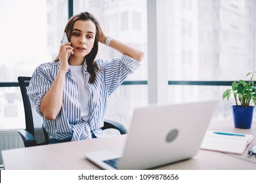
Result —
[[251, 141], [253, 141], [253, 135], [207, 131], [201, 148], [232, 154], [244, 154]]

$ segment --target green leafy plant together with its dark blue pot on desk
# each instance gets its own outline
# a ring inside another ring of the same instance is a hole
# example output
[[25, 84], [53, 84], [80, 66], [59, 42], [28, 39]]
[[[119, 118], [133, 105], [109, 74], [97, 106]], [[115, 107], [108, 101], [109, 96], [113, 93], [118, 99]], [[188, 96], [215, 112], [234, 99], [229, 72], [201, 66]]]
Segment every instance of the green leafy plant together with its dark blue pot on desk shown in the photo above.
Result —
[[[223, 93], [223, 99], [230, 99], [230, 96], [234, 97], [236, 105], [232, 105], [232, 114], [234, 119], [234, 126], [242, 129], [251, 128], [253, 121], [253, 109], [256, 105], [256, 87], [253, 82], [253, 75], [256, 73], [247, 73], [247, 76], [251, 75], [251, 79], [248, 82], [239, 80], [238, 82], [232, 82], [232, 89], [227, 89]], [[250, 105], [250, 101], [253, 101], [254, 106]]]

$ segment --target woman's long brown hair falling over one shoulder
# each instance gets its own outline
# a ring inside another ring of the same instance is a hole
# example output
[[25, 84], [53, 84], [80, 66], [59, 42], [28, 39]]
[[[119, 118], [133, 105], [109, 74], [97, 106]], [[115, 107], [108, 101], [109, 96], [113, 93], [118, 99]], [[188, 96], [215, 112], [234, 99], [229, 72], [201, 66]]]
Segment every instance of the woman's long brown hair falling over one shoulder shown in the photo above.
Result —
[[[70, 41], [70, 38], [72, 35], [72, 30], [73, 30], [74, 24], [77, 20], [85, 20], [85, 21], [91, 20], [96, 26], [96, 35], [95, 35], [95, 42], [93, 44], [93, 48], [92, 48], [91, 52], [89, 54], [87, 54], [87, 56], [85, 56], [86, 63], [87, 63], [87, 72], [90, 73], [89, 81], [91, 83], [94, 83], [95, 77], [96, 77], [95, 70], [99, 71], [97, 65], [95, 64], [95, 58], [98, 53], [98, 37], [100, 35], [100, 24], [98, 23], [98, 20], [96, 20], [96, 18], [93, 16], [93, 14], [91, 14], [89, 12], [81, 12], [79, 14], [72, 16], [70, 18], [70, 20], [68, 20], [68, 23], [65, 27], [65, 32], [68, 35], [69, 41]], [[57, 57], [54, 61], [58, 61], [58, 60], [59, 60], [59, 58]]]

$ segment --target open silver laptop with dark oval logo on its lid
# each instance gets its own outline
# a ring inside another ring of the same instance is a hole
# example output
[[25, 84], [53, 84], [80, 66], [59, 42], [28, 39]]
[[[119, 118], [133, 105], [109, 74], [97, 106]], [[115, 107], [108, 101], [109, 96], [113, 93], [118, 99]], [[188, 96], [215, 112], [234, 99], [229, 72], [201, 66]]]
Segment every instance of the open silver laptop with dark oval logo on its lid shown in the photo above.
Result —
[[[102, 169], [151, 169], [198, 153], [217, 101], [137, 108], [124, 148], [85, 154]], [[118, 137], [116, 137], [118, 138]]]

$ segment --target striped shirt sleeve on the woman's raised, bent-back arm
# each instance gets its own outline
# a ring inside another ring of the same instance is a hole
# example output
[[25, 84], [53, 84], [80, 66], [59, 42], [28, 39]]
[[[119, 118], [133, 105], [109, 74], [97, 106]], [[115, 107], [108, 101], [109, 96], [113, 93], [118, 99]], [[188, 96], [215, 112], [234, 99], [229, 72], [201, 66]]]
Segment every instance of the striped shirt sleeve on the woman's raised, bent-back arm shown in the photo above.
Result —
[[135, 59], [126, 55], [121, 56], [119, 59], [105, 61], [102, 64], [102, 69], [104, 70], [104, 80], [108, 88], [108, 96], [139, 66], [140, 64]]

